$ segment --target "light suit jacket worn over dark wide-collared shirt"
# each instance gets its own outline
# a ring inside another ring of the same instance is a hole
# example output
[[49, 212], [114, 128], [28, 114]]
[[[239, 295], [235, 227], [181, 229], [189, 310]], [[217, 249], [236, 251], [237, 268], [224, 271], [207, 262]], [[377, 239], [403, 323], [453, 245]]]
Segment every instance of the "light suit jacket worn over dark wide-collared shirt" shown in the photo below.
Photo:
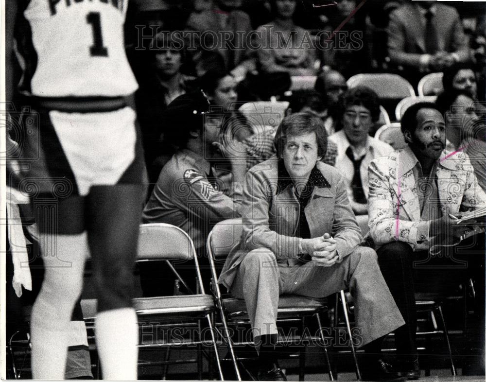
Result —
[[[361, 242], [361, 230], [347, 198], [346, 179], [334, 167], [317, 162], [310, 179], [313, 190], [304, 208], [311, 237], [328, 232], [342, 260]], [[298, 256], [299, 203], [283, 161], [270, 158], [248, 171], [243, 187], [243, 234], [230, 251], [219, 282], [228, 289], [244, 256], [268, 248], [277, 261]]]

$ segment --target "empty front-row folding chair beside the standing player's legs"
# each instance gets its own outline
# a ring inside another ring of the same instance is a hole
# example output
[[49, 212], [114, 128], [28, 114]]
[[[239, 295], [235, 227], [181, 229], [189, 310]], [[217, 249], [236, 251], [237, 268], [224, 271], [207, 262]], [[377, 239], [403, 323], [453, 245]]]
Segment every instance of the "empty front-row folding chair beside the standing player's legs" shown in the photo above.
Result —
[[[141, 340], [139, 349], [167, 348], [163, 361], [142, 362], [139, 356], [139, 366], [164, 365], [163, 379], [167, 372], [167, 365], [179, 363], [197, 363], [198, 379], [202, 380], [202, 357], [205, 355], [209, 362], [212, 356], [203, 350], [202, 345], [210, 345], [213, 349], [214, 359], [220, 379], [223, 379], [221, 364], [217, 352], [216, 339], [212, 325], [211, 314], [215, 312], [214, 300], [211, 295], [205, 294], [201, 280], [197, 256], [189, 235], [182, 229], [170, 224], [154, 223], [140, 225], [139, 248], [137, 261], [160, 261], [160, 260], [186, 260], [192, 267], [197, 278], [199, 288], [198, 294], [157, 296], [157, 297], [137, 297], [133, 299], [133, 306], [139, 318], [141, 330]], [[193, 263], [193, 265], [192, 265]], [[168, 264], [171, 265], [168, 261]], [[171, 266], [170, 266], [171, 267]], [[174, 270], [173, 267], [171, 269]], [[186, 282], [175, 273], [175, 277], [187, 287]], [[189, 292], [191, 292], [189, 290]], [[83, 315], [87, 323], [88, 331], [94, 327], [96, 316], [96, 299], [85, 299], [81, 301]], [[205, 321], [209, 338], [198, 338], [201, 334], [201, 325]], [[155, 325], [155, 330], [154, 329]], [[189, 328], [188, 332], [196, 333], [196, 338], [181, 337], [177, 338], [170, 335], [171, 328]], [[150, 332], [147, 334], [147, 330]], [[169, 335], [159, 335], [158, 330], [169, 330]], [[181, 345], [197, 346], [197, 358], [185, 360], [169, 360], [170, 347]]]

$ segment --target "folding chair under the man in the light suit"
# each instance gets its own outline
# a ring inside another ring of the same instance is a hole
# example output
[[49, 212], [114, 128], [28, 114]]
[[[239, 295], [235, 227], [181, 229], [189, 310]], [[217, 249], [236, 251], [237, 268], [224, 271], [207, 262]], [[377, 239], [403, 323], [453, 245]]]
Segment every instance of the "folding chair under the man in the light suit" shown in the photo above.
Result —
[[[222, 265], [228, 255], [229, 250], [237, 245], [241, 240], [242, 235], [242, 220], [241, 219], [228, 219], [216, 224], [208, 235], [207, 251], [209, 256], [209, 262], [211, 266], [212, 274], [212, 292], [215, 297], [216, 305], [219, 310], [219, 318], [221, 322], [218, 322], [218, 328], [222, 327], [224, 340], [228, 348], [231, 361], [236, 373], [236, 377], [241, 381], [240, 367], [245, 366], [241, 361], [247, 358], [237, 357], [235, 354], [234, 346], [239, 345], [254, 345], [252, 341], [235, 341], [230, 335], [229, 327], [234, 324], [248, 324], [248, 315], [246, 311], [246, 305], [244, 300], [230, 297], [229, 295], [222, 294], [221, 289], [217, 283], [218, 274], [216, 271], [216, 264]], [[277, 324], [283, 322], [295, 322], [298, 328], [303, 328], [305, 325], [305, 318], [314, 316], [317, 326], [319, 328], [319, 338], [314, 340], [322, 341], [326, 344], [324, 338], [324, 330], [321, 324], [320, 314], [327, 311], [327, 299], [315, 299], [305, 296], [297, 295], [282, 295], [278, 301], [278, 317]], [[281, 343], [282, 338], [279, 338]], [[299, 340], [294, 338], [293, 340]], [[303, 340], [309, 340], [305, 338]], [[255, 353], [256, 354], [256, 353]], [[330, 380], [334, 381], [334, 374], [332, 372], [328, 351], [324, 347], [324, 354], [326, 364], [329, 368]], [[304, 379], [304, 365], [305, 365], [305, 347], [301, 347], [299, 354], [299, 381]]]

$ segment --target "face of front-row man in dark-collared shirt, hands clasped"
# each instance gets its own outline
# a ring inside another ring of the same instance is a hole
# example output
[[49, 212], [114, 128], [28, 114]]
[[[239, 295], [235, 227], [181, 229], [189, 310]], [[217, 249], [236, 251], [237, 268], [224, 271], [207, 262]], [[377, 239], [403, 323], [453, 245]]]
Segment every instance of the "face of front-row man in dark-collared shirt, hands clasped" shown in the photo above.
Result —
[[317, 138], [315, 133], [287, 135], [282, 151], [285, 168], [290, 177], [307, 180], [315, 163], [321, 159], [317, 155]]

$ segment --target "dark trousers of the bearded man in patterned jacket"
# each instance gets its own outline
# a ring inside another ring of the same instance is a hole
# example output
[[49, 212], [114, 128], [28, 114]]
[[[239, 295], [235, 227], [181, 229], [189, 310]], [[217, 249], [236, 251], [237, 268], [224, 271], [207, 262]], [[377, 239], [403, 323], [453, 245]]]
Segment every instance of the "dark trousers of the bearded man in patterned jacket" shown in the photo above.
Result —
[[417, 355], [416, 292], [444, 295], [457, 293], [459, 284], [471, 278], [476, 292], [474, 315], [469, 317], [467, 333], [473, 347], [483, 347], [485, 330], [485, 236], [473, 236], [459, 245], [446, 248], [438, 256], [428, 251], [414, 252], [403, 242], [384, 244], [377, 250], [382, 274], [405, 325], [395, 330], [397, 353], [404, 360]]

